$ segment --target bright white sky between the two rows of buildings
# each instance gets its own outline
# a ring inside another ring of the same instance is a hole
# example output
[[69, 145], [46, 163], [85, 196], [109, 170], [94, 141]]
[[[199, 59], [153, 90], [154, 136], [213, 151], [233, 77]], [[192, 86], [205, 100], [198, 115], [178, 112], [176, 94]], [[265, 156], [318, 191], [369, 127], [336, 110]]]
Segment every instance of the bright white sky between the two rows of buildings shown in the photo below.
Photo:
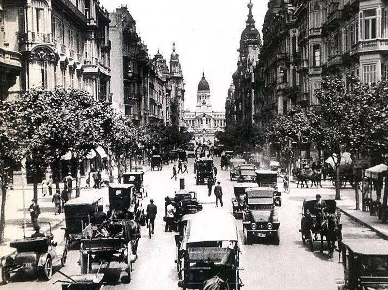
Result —
[[[152, 58], [159, 49], [169, 61], [175, 42], [186, 84], [185, 109], [195, 109], [197, 86], [204, 72], [214, 111], [225, 111], [248, 3], [249, 0], [100, 0], [109, 12], [127, 5]], [[262, 38], [268, 0], [252, 3]]]

